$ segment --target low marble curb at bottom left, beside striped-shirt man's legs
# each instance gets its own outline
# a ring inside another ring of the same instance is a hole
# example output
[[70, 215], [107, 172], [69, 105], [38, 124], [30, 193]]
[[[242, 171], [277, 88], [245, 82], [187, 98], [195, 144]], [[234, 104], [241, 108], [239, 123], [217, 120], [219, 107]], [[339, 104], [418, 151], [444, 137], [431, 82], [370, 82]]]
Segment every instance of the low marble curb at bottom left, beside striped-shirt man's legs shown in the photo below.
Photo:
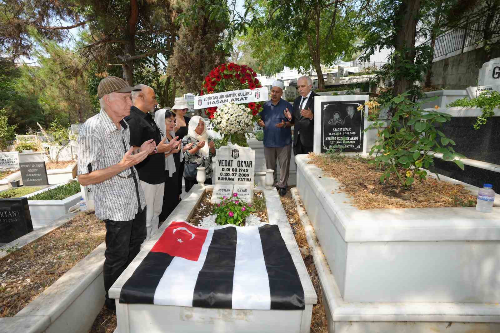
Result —
[[102, 242], [15, 316], [0, 318], [0, 331], [88, 332], [104, 304], [105, 248]]

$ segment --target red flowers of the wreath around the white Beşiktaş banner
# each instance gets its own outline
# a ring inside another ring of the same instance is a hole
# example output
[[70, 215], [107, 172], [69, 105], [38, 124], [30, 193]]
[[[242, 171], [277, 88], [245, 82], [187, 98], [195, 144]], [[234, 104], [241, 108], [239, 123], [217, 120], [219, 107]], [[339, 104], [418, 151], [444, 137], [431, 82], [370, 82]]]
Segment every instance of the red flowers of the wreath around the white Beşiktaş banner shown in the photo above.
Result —
[[[200, 95], [238, 89], [253, 90], [262, 87], [260, 81], [255, 76], [257, 76], [257, 73], [247, 65], [237, 65], [233, 62], [222, 63], [210, 70], [210, 73], [205, 77]], [[263, 102], [247, 103], [251, 113], [255, 116], [254, 120], [257, 120], [257, 114], [262, 105]], [[205, 110], [205, 114], [210, 119], [213, 118], [215, 112], [217, 112], [216, 106], [207, 107]]]

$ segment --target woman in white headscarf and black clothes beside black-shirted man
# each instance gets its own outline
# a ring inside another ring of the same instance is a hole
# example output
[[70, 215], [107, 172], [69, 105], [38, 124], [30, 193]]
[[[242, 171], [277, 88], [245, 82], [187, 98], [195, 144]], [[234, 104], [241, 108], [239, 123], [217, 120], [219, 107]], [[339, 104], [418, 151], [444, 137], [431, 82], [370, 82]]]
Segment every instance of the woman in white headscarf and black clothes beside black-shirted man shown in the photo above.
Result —
[[[154, 122], [161, 130], [161, 139], [165, 138], [166, 142], [170, 142], [175, 137], [175, 114], [169, 110], [160, 109], [154, 112]], [[159, 221], [164, 221], [172, 210], [177, 206], [180, 201], [178, 193], [178, 177], [177, 170], [180, 163], [182, 152], [180, 151], [180, 144], [165, 152], [165, 190], [163, 192], [163, 207], [159, 214]]]

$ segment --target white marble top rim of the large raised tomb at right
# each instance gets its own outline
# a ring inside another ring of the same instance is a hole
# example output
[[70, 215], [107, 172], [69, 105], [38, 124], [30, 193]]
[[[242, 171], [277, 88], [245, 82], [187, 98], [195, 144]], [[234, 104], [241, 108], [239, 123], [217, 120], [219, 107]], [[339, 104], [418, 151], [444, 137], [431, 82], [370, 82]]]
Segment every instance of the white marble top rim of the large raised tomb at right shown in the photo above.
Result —
[[[329, 216], [336, 216], [333, 224], [344, 241], [500, 240], [500, 207], [493, 207], [489, 214], [479, 213], [474, 207], [361, 210], [344, 192], [338, 192], [338, 181], [308, 161], [306, 155], [295, 157], [297, 178], [303, 176], [297, 180], [308, 182], [319, 198], [317, 204]], [[384, 223], [373, 222], [377, 220]]]

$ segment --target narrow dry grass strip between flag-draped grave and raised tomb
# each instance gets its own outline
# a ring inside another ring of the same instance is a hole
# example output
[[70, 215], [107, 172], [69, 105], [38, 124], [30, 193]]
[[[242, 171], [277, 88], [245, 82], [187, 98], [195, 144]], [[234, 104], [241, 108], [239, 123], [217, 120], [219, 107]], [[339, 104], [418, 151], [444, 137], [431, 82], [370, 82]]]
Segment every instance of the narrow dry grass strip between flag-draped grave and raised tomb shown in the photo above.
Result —
[[317, 303], [312, 306], [312, 318], [311, 318], [311, 333], [326, 333], [328, 331], [326, 315], [324, 313], [324, 306], [321, 299], [321, 286], [319, 284], [319, 277], [316, 273], [316, 267], [314, 266], [314, 262], [312, 260], [312, 255], [308, 254], [309, 245], [307, 244], [307, 239], [305, 237], [305, 231], [302, 227], [302, 223], [300, 223], [300, 217], [297, 213], [297, 206], [295, 205], [295, 201], [291, 197], [291, 193], [288, 187], [288, 191], [286, 195], [281, 196], [281, 204], [283, 205], [284, 211], [286, 212], [286, 216], [288, 217], [288, 222], [290, 222], [291, 229], [293, 230], [293, 234], [295, 235], [295, 240], [298, 244], [298, 247], [301, 249], [302, 259], [304, 260], [305, 267], [307, 268], [307, 272], [309, 273], [309, 277], [311, 278], [312, 285], [314, 286], [314, 290], [317, 295]]

